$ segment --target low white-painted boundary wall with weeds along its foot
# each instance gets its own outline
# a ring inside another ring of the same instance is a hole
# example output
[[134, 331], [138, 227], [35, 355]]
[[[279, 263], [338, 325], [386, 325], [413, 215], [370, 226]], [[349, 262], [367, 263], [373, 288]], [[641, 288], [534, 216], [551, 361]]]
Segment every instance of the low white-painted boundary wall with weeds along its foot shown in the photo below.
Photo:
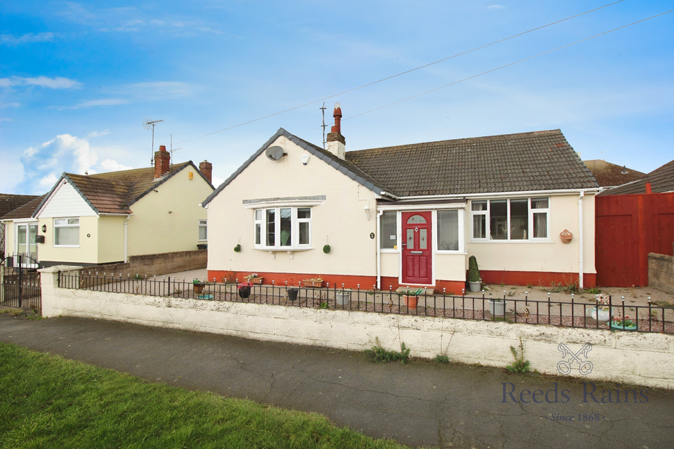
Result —
[[72, 290], [58, 288], [59, 267], [40, 271], [44, 317], [99, 318], [355, 351], [372, 348], [379, 338], [391, 350], [404, 342], [413, 357], [447, 354], [451, 361], [497, 367], [511, 364], [510, 346], [517, 348], [521, 338], [532, 369], [552, 375], [563, 359], [560, 343], [573, 352], [591, 343], [592, 372], [583, 376], [575, 364], [570, 375], [674, 389], [672, 335]]

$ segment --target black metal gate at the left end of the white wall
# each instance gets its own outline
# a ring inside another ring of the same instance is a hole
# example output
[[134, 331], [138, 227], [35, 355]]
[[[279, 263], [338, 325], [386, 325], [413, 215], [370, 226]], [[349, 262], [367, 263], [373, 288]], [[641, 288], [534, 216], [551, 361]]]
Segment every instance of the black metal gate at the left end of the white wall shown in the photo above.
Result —
[[10, 254], [0, 263], [0, 306], [42, 312], [38, 261], [28, 254]]

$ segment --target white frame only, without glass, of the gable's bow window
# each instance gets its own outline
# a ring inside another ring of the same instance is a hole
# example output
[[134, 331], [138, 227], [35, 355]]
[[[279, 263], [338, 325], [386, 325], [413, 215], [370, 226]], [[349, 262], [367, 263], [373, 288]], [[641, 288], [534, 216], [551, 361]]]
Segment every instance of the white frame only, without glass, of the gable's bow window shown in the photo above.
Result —
[[[290, 209], [290, 245], [281, 245], [281, 209]], [[309, 210], [309, 218], [299, 218], [299, 209]], [[268, 211], [274, 211], [273, 236], [274, 245], [268, 245]], [[258, 218], [259, 215], [259, 218]], [[309, 250], [311, 246], [313, 207], [299, 205], [274, 205], [262, 206], [253, 209], [253, 247], [256, 250], [265, 251], [297, 251]], [[307, 238], [308, 243], [299, 243], [300, 223], [308, 224]], [[259, 229], [259, 232], [258, 232]]]

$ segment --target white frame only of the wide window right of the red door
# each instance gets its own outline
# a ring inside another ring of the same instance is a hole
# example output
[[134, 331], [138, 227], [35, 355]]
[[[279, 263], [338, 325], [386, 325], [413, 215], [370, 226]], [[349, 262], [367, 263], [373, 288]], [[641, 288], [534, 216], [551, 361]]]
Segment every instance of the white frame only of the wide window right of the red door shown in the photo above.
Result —
[[[513, 238], [511, 229], [512, 211], [511, 201], [527, 200], [527, 238]], [[536, 200], [545, 199], [548, 202], [548, 207], [533, 209], [532, 202]], [[491, 217], [491, 202], [498, 201], [506, 202], [506, 238], [493, 238], [491, 233], [492, 217]], [[474, 204], [486, 204], [484, 210], [474, 210]], [[545, 214], [545, 237], [534, 237], [534, 215]], [[477, 217], [484, 217], [484, 237], [475, 236], [475, 220]], [[512, 242], [550, 242], [550, 197], [509, 197], [509, 198], [485, 198], [485, 199], [471, 199], [470, 200], [470, 241], [471, 242], [494, 242], [494, 243], [512, 243]]]

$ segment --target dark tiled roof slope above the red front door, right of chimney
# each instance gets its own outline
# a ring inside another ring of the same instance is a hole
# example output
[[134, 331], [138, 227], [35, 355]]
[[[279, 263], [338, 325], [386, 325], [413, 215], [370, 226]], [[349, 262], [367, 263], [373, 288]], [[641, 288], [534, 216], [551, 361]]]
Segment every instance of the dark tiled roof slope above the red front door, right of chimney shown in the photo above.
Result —
[[597, 188], [559, 129], [347, 152], [397, 196]]

